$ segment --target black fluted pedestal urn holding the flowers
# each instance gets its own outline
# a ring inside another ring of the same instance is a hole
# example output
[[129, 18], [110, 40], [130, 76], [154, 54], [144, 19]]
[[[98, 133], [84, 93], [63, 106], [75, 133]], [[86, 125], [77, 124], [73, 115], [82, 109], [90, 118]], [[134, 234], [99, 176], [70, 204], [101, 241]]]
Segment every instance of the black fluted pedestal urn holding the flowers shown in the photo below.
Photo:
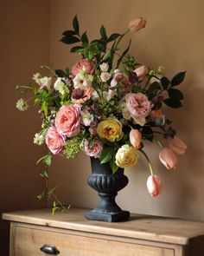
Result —
[[95, 189], [100, 197], [98, 207], [86, 213], [87, 220], [101, 220], [108, 222], [118, 222], [128, 220], [130, 213], [118, 207], [115, 197], [118, 191], [128, 184], [128, 178], [124, 175], [124, 169], [118, 168], [112, 174], [109, 163], [100, 164], [98, 158], [91, 157], [92, 175], [87, 182]]

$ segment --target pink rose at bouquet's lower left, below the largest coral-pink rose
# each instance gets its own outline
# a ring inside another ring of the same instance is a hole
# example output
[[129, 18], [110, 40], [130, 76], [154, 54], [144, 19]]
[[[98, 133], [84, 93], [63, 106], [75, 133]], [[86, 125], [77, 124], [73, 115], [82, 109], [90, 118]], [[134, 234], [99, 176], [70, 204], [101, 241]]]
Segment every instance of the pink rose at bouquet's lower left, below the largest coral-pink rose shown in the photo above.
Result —
[[58, 154], [61, 152], [64, 140], [63, 137], [57, 132], [57, 129], [52, 126], [48, 128], [47, 134], [45, 135], [45, 142], [53, 154]]

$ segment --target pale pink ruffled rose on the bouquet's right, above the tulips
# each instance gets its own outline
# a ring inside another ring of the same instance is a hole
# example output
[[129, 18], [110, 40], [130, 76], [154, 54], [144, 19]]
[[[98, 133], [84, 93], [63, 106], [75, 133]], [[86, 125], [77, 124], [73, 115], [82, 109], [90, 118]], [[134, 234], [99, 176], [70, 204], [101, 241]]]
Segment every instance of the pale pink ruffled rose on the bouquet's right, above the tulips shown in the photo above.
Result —
[[125, 95], [127, 109], [131, 117], [141, 126], [145, 124], [145, 117], [150, 114], [151, 104], [148, 98], [142, 93]]

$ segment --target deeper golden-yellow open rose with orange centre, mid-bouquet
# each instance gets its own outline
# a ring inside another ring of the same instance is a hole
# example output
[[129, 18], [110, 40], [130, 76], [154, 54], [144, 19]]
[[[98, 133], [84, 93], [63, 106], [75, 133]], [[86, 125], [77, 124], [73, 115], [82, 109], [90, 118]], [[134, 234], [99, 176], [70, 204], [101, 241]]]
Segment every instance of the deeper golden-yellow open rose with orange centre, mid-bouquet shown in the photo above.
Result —
[[122, 124], [115, 118], [107, 118], [100, 121], [97, 127], [100, 138], [108, 141], [119, 141], [123, 137]]

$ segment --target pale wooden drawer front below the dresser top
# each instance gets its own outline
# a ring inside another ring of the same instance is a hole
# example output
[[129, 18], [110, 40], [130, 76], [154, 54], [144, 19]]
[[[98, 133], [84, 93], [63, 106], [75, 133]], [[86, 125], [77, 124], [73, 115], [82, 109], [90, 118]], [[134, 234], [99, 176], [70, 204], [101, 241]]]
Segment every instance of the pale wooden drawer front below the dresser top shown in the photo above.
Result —
[[[60, 256], [174, 256], [174, 250], [158, 246], [126, 243], [110, 238], [108, 240], [41, 229], [16, 226], [12, 256], [40, 256], [41, 246], [49, 244], [60, 251]], [[50, 255], [50, 254], [49, 254]]]

